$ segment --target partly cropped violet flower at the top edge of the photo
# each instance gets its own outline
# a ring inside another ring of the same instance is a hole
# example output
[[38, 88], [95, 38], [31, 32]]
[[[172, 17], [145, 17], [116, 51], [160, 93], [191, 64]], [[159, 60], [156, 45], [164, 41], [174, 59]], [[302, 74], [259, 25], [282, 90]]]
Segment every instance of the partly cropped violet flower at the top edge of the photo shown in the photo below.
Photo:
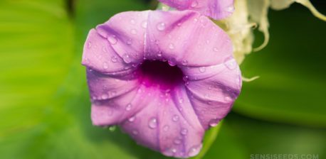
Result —
[[233, 0], [159, 0], [175, 9], [194, 10], [214, 19], [230, 16], [233, 11]]

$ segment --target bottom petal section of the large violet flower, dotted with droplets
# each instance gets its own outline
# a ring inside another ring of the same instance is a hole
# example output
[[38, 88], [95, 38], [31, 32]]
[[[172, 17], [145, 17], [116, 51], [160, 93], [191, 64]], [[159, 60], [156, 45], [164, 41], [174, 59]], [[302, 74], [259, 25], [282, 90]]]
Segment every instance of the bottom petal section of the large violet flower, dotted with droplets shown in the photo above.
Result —
[[[150, 102], [132, 116], [132, 120], [122, 124], [124, 131], [138, 143], [164, 155], [188, 158], [199, 153], [204, 128], [192, 109], [184, 86], [175, 88], [171, 94], [157, 89], [147, 91], [153, 94]], [[177, 96], [180, 98], [175, 99]]]

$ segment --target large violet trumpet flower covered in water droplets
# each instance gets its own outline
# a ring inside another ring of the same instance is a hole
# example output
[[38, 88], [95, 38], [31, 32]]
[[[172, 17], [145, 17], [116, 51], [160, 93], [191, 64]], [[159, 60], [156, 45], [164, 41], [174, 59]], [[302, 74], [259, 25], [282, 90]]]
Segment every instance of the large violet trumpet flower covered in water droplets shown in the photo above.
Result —
[[93, 124], [119, 125], [167, 156], [197, 155], [240, 93], [232, 52], [228, 35], [196, 11], [118, 13], [85, 42]]

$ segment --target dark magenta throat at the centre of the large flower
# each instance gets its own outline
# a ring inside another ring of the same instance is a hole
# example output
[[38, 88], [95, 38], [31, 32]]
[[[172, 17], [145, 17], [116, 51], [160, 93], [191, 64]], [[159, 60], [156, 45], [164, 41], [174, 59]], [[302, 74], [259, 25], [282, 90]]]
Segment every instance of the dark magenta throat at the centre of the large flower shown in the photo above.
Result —
[[159, 60], [145, 60], [140, 70], [146, 82], [159, 84], [162, 87], [174, 87], [183, 84], [184, 73], [179, 67], [171, 66]]

